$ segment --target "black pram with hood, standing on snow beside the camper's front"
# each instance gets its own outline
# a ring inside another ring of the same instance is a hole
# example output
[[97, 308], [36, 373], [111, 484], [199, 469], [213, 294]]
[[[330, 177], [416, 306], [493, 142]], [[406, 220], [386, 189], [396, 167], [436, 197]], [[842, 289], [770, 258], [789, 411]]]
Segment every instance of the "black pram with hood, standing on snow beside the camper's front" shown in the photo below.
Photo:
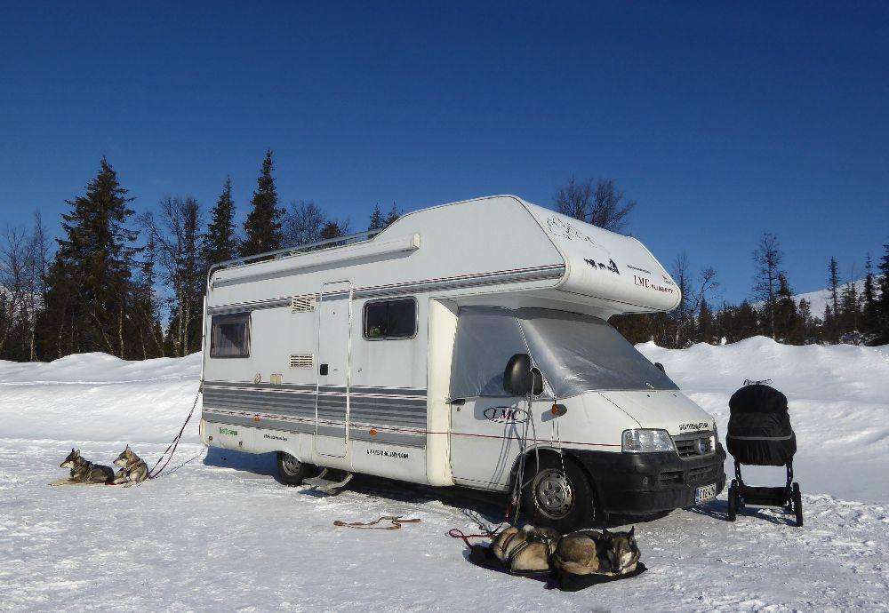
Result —
[[[734, 476], [728, 490], [728, 521], [734, 521], [745, 504], [784, 506], [803, 525], [803, 503], [799, 483], [793, 482], [793, 455], [797, 435], [790, 426], [787, 396], [771, 381], [744, 381], [744, 386], [729, 400], [731, 417], [725, 444], [734, 458]], [[782, 488], [747, 485], [741, 478], [741, 465], [787, 466], [787, 483]]]

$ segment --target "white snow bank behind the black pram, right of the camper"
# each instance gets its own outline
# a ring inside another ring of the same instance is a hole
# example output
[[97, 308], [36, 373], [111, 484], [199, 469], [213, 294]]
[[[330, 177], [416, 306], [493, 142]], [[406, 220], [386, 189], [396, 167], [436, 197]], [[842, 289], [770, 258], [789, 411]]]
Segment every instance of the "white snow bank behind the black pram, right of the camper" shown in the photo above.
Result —
[[[889, 346], [789, 346], [754, 337], [725, 346], [677, 350], [645, 343], [637, 349], [663, 363], [685, 394], [717, 419], [723, 440], [729, 397], [745, 378], [771, 378], [789, 400], [804, 491], [889, 503]], [[743, 473], [779, 485], [782, 470], [745, 467]], [[733, 474], [731, 461], [725, 472]]]

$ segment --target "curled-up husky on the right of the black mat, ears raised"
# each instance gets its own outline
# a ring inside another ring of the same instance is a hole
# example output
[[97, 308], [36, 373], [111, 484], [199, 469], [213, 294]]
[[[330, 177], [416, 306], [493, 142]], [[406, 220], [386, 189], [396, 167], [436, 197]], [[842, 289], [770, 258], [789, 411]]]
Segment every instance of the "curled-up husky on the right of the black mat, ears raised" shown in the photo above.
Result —
[[581, 530], [562, 537], [553, 554], [557, 569], [573, 575], [625, 575], [636, 570], [636, 527], [629, 532]]

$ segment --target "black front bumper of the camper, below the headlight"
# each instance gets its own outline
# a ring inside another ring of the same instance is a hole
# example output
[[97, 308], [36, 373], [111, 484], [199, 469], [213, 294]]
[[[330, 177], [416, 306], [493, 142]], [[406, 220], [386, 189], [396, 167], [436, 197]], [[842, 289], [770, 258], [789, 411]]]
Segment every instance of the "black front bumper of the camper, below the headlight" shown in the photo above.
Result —
[[717, 484], [725, 489], [725, 450], [701, 458], [663, 453], [572, 450], [593, 478], [597, 506], [606, 513], [647, 514], [694, 506], [694, 491]]

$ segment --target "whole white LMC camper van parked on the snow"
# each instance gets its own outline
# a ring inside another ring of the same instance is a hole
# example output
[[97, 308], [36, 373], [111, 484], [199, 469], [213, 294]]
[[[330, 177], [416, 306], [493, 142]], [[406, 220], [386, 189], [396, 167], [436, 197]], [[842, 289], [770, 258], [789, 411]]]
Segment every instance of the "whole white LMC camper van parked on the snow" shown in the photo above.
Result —
[[635, 238], [509, 195], [224, 263], [201, 436], [288, 483], [505, 492], [523, 466], [525, 517], [563, 529], [693, 506], [725, 486], [716, 424], [607, 323], [679, 298]]

